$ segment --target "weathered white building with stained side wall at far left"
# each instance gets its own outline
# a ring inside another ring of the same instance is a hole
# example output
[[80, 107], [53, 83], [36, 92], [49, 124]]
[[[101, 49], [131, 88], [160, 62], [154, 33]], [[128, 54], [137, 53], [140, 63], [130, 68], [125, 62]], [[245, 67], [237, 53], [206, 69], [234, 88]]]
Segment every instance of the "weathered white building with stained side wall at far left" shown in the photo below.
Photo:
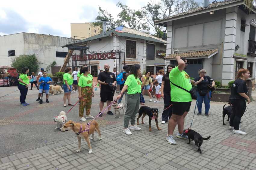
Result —
[[[66, 37], [45, 34], [22, 32], [0, 36], [0, 65], [11, 66], [11, 60], [15, 56], [36, 54], [39, 69], [46, 68], [53, 61], [56, 61], [55, 66], [60, 68], [67, 55], [67, 48], [61, 46], [66, 44]], [[51, 73], [52, 70], [48, 72]]]

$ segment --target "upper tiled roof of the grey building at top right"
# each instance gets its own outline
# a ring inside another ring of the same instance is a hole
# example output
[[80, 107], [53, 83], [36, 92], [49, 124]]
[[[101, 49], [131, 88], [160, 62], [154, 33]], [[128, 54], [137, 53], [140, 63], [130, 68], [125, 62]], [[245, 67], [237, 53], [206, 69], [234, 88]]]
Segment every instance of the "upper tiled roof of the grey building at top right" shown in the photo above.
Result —
[[215, 3], [209, 4], [208, 7], [205, 7], [205, 8], [204, 7], [198, 7], [198, 8], [189, 10], [187, 12], [183, 12], [183, 13], [179, 13], [179, 14], [176, 14], [176, 15], [169, 16], [169, 17], [164, 18], [164, 19], [155, 20], [155, 22], [160, 22], [160, 21], [164, 21], [164, 20], [167, 20], [167, 19], [176, 18], [178, 16], [188, 15], [188, 14], [191, 14], [191, 13], [196, 13], [196, 12], [200, 12], [200, 11], [203, 11], [203, 10], [208, 10], [208, 9], [212, 9], [212, 8], [216, 8], [216, 7], [220, 7], [220, 6], [234, 4], [234, 3], [237, 3], [237, 2], [243, 2], [243, 0], [226, 0], [226, 1], [215, 2]]

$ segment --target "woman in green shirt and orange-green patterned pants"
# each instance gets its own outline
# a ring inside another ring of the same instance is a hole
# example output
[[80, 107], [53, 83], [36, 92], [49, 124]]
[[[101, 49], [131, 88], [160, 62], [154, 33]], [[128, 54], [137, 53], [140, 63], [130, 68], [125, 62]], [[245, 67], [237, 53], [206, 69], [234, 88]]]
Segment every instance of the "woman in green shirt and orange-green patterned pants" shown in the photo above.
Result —
[[[80, 79], [78, 82], [78, 92], [80, 99], [79, 117], [80, 121], [86, 121], [86, 118], [94, 118], [90, 115], [92, 106], [92, 97], [94, 97], [92, 77], [89, 75], [89, 67], [83, 67], [80, 70]], [[86, 118], [83, 117], [84, 108], [86, 111]]]

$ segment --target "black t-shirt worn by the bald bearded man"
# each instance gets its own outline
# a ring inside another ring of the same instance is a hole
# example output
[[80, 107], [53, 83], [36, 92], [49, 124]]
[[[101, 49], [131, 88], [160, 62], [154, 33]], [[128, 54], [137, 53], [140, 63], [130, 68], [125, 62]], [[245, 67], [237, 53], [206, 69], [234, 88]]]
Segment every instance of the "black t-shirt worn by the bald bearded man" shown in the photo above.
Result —
[[[112, 72], [101, 72], [98, 75], [98, 79], [101, 82], [105, 82], [105, 83], [113, 83], [114, 81], [116, 81], [116, 76], [114, 73]], [[113, 86], [110, 85], [101, 85], [101, 91], [103, 92], [112, 92], [113, 91]]]

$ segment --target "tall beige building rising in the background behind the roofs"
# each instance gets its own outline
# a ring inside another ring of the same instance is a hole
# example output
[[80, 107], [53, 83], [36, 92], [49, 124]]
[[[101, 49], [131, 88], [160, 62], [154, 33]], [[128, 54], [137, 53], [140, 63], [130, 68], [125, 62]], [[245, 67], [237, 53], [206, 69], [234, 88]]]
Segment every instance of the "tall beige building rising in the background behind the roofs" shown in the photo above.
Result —
[[76, 36], [77, 39], [89, 38], [100, 34], [101, 28], [94, 26], [92, 22], [71, 23], [71, 37]]

